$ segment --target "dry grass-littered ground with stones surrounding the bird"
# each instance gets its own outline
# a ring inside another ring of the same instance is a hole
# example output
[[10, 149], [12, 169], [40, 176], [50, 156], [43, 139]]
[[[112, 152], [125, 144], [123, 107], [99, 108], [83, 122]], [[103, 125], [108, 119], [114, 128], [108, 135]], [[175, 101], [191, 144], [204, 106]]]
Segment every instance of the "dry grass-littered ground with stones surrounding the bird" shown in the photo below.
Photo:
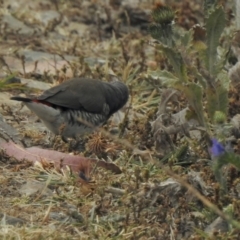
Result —
[[[222, 2], [230, 21], [231, 6]], [[234, 208], [239, 218], [238, 170], [228, 166], [229, 192], [222, 194], [199, 136], [173, 134], [174, 153], [154, 138], [159, 103], [171, 96], [172, 114], [187, 105], [181, 93], [148, 77], [171, 69], [148, 32], [161, 4], [1, 2], [1, 239], [239, 239], [225, 215]], [[203, 22], [201, 1], [167, 4], [181, 28]], [[82, 149], [60, 138], [52, 144], [37, 117], [10, 100], [75, 76], [114, 76], [130, 90], [127, 105], [86, 136]], [[238, 93], [231, 94], [233, 116]]]

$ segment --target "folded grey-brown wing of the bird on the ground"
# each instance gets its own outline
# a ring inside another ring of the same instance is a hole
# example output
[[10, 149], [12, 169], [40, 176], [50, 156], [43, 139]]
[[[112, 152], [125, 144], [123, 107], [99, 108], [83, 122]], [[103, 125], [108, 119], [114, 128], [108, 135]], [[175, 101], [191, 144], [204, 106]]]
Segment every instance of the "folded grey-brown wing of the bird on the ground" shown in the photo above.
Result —
[[92, 79], [72, 79], [43, 92], [38, 100], [71, 109], [101, 113], [106, 102], [103, 85]]

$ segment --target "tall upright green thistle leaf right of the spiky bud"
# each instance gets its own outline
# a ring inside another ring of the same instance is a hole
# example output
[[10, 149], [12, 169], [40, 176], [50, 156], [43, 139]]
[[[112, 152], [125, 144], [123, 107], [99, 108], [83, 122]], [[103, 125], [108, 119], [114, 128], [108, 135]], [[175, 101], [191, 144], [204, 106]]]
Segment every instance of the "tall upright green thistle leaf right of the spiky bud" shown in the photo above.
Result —
[[225, 22], [225, 13], [222, 7], [216, 8], [206, 20], [206, 68], [212, 76], [216, 75], [217, 47], [225, 27]]

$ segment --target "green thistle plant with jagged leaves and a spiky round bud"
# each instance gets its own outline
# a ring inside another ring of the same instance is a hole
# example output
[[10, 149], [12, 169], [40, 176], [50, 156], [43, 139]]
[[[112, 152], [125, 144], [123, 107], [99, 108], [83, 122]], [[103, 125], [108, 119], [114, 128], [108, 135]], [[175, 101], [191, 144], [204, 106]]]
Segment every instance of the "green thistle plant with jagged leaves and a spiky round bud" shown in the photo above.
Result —
[[[172, 66], [172, 71], [150, 71], [149, 76], [181, 91], [190, 105], [191, 116], [207, 130], [214, 123], [216, 112], [226, 119], [228, 111], [229, 78], [224, 70], [228, 49], [219, 45], [226, 21], [223, 8], [215, 2], [205, 1], [205, 29], [195, 26], [179, 31], [174, 25], [175, 13], [166, 6], [153, 10], [149, 26], [158, 43], [156, 49]], [[197, 37], [199, 32], [201, 36]]]

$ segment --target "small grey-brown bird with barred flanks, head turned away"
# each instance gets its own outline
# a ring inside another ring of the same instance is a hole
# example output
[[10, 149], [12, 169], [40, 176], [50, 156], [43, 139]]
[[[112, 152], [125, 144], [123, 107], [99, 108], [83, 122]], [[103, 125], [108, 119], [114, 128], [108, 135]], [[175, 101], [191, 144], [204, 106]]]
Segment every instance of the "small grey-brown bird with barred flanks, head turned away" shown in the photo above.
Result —
[[103, 82], [73, 78], [44, 91], [40, 96], [13, 96], [34, 112], [64, 142], [79, 139], [100, 127], [128, 101], [128, 87], [121, 81]]

